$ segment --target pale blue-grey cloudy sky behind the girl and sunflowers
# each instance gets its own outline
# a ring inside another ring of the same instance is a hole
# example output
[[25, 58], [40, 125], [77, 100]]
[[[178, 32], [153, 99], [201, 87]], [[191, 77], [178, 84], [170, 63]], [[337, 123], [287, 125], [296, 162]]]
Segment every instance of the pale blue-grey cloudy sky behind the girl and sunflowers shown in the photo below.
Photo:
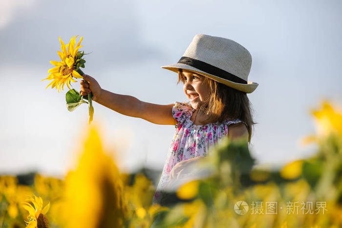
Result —
[[[63, 176], [87, 129], [87, 106], [65, 107], [64, 91], [45, 90], [58, 38], [83, 36], [84, 72], [103, 89], [154, 104], [187, 101], [178, 62], [196, 34], [234, 40], [252, 55], [248, 94], [259, 165], [310, 156], [299, 140], [315, 132], [311, 108], [342, 104], [342, 2], [318, 0], [52, 1], [0, 0], [0, 173]], [[80, 90], [79, 83], [73, 83]], [[121, 115], [94, 103], [94, 124], [118, 166], [162, 169], [174, 126]]]

